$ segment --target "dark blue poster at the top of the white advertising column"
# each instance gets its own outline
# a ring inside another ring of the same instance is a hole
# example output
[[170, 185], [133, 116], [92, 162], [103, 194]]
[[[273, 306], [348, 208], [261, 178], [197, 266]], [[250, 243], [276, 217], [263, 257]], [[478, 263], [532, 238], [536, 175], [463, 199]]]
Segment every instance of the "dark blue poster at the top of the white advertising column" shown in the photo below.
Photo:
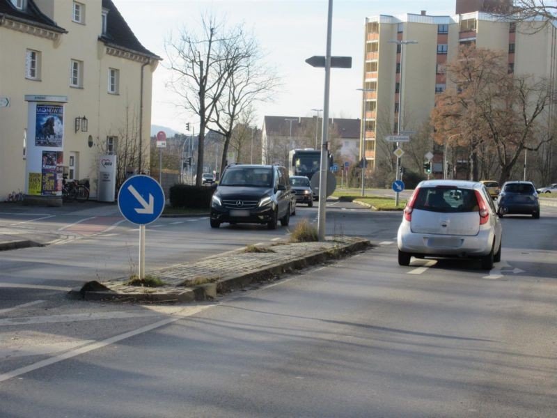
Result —
[[62, 148], [64, 107], [60, 104], [37, 104], [35, 146]]

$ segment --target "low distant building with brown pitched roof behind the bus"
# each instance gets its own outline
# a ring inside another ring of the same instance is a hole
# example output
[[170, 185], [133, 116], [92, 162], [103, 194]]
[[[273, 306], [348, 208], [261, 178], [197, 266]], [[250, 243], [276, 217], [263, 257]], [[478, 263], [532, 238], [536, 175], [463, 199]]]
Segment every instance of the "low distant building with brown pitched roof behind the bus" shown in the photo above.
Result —
[[[295, 148], [321, 146], [322, 118], [265, 116], [262, 126], [262, 164], [287, 164]], [[359, 153], [360, 120], [329, 118], [329, 150], [343, 162], [353, 163]]]

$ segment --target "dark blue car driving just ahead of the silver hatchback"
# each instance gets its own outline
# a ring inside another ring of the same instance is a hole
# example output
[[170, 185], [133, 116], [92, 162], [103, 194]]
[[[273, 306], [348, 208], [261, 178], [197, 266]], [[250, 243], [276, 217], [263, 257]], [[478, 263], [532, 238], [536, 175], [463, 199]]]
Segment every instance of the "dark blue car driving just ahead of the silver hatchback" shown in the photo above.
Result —
[[497, 202], [499, 217], [503, 215], [532, 215], [534, 219], [540, 219], [540, 202], [538, 193], [530, 181], [508, 181], [505, 182], [499, 201]]

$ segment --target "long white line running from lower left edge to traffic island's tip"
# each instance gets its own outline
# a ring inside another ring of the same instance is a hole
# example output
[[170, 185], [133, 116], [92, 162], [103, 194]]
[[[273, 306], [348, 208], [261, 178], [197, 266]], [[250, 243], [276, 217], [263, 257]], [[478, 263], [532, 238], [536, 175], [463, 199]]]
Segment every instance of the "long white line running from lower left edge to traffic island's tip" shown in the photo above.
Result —
[[171, 318], [166, 318], [166, 319], [163, 319], [163, 320], [159, 320], [159, 322], [157, 322], [157, 323], [154, 323], [154, 324], [151, 324], [151, 325], [146, 325], [145, 327], [138, 328], [137, 330], [132, 330], [132, 331], [125, 332], [124, 334], [111, 336], [110, 338], [104, 339], [102, 341], [92, 343], [92, 344], [88, 344], [84, 347], [76, 348], [75, 350], [71, 350], [71, 351], [68, 351], [67, 353], [63, 353], [61, 355], [56, 355], [56, 356], [51, 357], [49, 359], [45, 359], [45, 360], [42, 360], [40, 362], [30, 364], [29, 366], [20, 367], [19, 369], [15, 369], [13, 371], [8, 371], [7, 373], [0, 374], [0, 382], [3, 382], [5, 380], [11, 379], [11, 378], [16, 378], [17, 376], [21, 376], [24, 373], [29, 373], [30, 371], [41, 369], [42, 367], [45, 367], [45, 366], [50, 366], [51, 364], [56, 364], [56, 363], [61, 362], [65, 359], [70, 359], [72, 357], [76, 357], [76, 356], [81, 355], [81, 354], [89, 353], [90, 351], [97, 350], [97, 348], [103, 348], [103, 347], [109, 346], [110, 344], [117, 343], [118, 341], [122, 341], [123, 339], [130, 338], [131, 336], [136, 336], [136, 335], [139, 335], [139, 334], [143, 334], [145, 332], [149, 332], [151, 330], [155, 330], [159, 327], [164, 327], [164, 325], [174, 323], [177, 320], [185, 318], [186, 316], [191, 316], [191, 315], [197, 314], [198, 312], [201, 312], [204, 309], [207, 309], [211, 306], [212, 305], [201, 306], [201, 307], [191, 307], [189, 309], [185, 309], [185, 310], [189, 311], [186, 314], [181, 314], [180, 316], [172, 316]]

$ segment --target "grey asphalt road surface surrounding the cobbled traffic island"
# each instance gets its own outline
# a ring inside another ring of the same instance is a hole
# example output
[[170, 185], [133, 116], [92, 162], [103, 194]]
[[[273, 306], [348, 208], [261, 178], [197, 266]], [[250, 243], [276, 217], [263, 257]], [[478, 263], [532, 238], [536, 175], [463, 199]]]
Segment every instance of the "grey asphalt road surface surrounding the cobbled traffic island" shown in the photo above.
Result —
[[[505, 217], [491, 272], [399, 267], [400, 213], [335, 203], [327, 216], [328, 233], [377, 246], [214, 303], [75, 302], [47, 288], [126, 272], [126, 223], [0, 254], [0, 284], [29, 284], [0, 287], [0, 417], [554, 417], [557, 208]], [[153, 266], [287, 233], [181, 220], [149, 229]]]

